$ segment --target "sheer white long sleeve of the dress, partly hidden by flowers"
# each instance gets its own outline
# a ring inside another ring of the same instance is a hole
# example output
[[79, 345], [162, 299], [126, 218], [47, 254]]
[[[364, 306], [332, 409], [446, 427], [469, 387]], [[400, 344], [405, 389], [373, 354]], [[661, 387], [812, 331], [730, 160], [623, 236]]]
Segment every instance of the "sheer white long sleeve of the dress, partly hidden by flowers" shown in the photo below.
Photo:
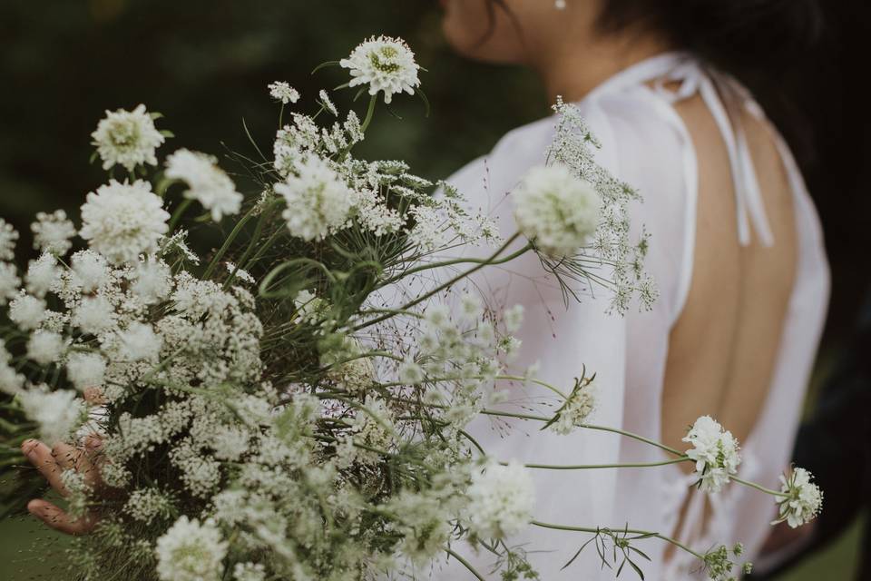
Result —
[[[596, 409], [592, 422], [612, 428], [625, 426], [626, 403], [636, 389], [651, 391], [645, 400], [652, 407], [643, 411], [642, 420], [652, 422], [654, 428], [658, 426], [661, 369], [668, 330], [680, 305], [680, 270], [686, 260], [688, 236], [682, 224], [688, 211], [682, 193], [680, 137], [667, 123], [651, 126], [651, 106], [638, 98], [609, 98], [603, 103], [585, 103], [582, 113], [603, 144], [597, 162], [631, 183], [645, 198], [645, 203], [631, 208], [631, 221], [633, 236], [639, 235], [642, 227], [652, 234], [647, 269], [661, 291], [661, 300], [652, 311], [637, 313], [637, 307], [631, 307], [626, 316], [610, 314], [612, 297], [598, 287], [577, 289], [581, 300], [566, 304], [560, 284], [532, 253], [503, 267], [484, 269], [472, 281], [495, 308], [524, 306], [524, 327], [516, 334], [522, 346], [512, 372], [522, 374], [529, 366], [537, 365], [534, 377], [564, 393], [571, 391], [574, 379], [584, 372], [588, 377], [595, 373]], [[509, 133], [493, 153], [471, 163], [450, 180], [475, 211], [491, 214], [505, 238], [516, 230], [510, 192], [526, 171], [544, 162], [545, 150], [553, 140], [554, 123], [548, 119]], [[650, 147], [651, 134], [659, 133], [662, 146], [656, 151]], [[656, 207], [662, 202], [660, 198], [666, 200], [664, 207]], [[517, 245], [523, 243], [518, 241]], [[610, 274], [603, 271], [602, 276]], [[646, 343], [646, 349], [641, 349], [641, 343]], [[650, 362], [652, 377], [659, 373], [660, 378], [632, 385], [639, 379], [631, 377], [639, 375], [633, 370], [635, 357]], [[500, 406], [504, 411], [552, 415], [559, 405], [553, 392], [537, 385], [505, 382], [498, 388], [507, 393], [507, 400]], [[473, 432], [486, 451], [499, 460], [591, 465], [612, 464], [621, 458], [623, 441], [615, 434], [579, 429], [560, 435], [541, 428], [540, 423], [522, 419], [482, 418]], [[625, 520], [615, 520], [621, 516], [616, 508], [622, 502], [616, 496], [623, 478], [621, 470], [533, 469], [532, 474], [537, 520], [583, 527], [626, 524]], [[591, 549], [584, 551], [572, 567], [561, 571], [588, 539], [588, 535], [531, 527], [511, 541], [525, 546], [542, 578], [563, 579], [577, 578], [579, 571], [586, 574], [599, 570], [599, 557]], [[533, 556], [536, 550], [550, 552]], [[478, 558], [483, 559], [479, 564], [484, 566], [486, 557]]]

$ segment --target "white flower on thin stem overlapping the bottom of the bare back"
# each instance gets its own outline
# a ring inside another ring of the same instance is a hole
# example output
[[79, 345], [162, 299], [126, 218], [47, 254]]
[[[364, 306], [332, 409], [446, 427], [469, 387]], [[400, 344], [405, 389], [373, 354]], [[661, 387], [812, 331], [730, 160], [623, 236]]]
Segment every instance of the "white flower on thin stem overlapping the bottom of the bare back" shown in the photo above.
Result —
[[697, 419], [683, 441], [693, 446], [687, 456], [696, 462], [701, 490], [719, 492], [738, 473], [738, 440], [710, 416]]

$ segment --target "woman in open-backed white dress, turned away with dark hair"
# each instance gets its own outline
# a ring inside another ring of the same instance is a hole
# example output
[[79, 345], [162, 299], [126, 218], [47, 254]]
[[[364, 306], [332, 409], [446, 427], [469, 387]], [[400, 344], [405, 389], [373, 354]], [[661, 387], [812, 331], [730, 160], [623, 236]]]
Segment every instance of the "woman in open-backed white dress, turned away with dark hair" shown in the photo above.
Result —
[[[718, 419], [743, 443], [739, 474], [778, 487], [788, 468], [808, 375], [826, 316], [828, 270], [817, 213], [787, 144], [734, 64], [772, 62], [817, 25], [810, 1], [442, 0], [445, 34], [476, 60], [524, 64], [552, 101], [577, 106], [602, 142], [597, 162], [644, 199], [633, 227], [651, 233], [646, 268], [659, 285], [650, 311], [603, 314], [608, 297], [566, 310], [534, 258], [477, 281], [494, 300], [524, 305], [523, 360], [541, 379], [571, 386], [582, 364], [597, 374], [595, 423], [686, 449], [688, 427]], [[795, 37], [795, 38], [792, 38]], [[763, 71], [774, 74], [773, 71]], [[553, 119], [511, 133], [452, 182], [514, 231], [511, 192], [543, 162]], [[507, 202], [507, 203], [506, 203]], [[518, 409], [546, 397], [508, 387]], [[656, 463], [657, 448], [608, 433], [570, 436], [518, 420], [480, 421], [474, 436], [495, 458], [547, 464]], [[774, 517], [746, 487], [706, 495], [675, 465], [592, 471], [533, 470], [538, 521], [657, 531], [705, 551], [744, 543], [758, 554]], [[589, 536], [530, 527], [523, 547], [542, 579], [612, 578], [595, 549], [563, 565]], [[479, 571], [493, 556], [456, 547]], [[648, 579], [689, 578], [699, 566], [648, 542]], [[438, 578], [470, 576], [451, 559]], [[597, 576], [598, 575], [598, 576]]]

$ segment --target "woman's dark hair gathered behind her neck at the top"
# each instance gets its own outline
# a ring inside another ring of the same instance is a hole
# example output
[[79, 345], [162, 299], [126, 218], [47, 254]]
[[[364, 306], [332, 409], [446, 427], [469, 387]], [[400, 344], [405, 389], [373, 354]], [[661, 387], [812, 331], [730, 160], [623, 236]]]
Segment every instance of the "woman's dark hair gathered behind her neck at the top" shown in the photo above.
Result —
[[[502, 10], [520, 31], [505, 0], [487, 5], [491, 29], [495, 11]], [[824, 22], [818, 0], [604, 0], [597, 26], [602, 34], [664, 34], [675, 48], [738, 78], [807, 170], [815, 161], [813, 135], [790, 86], [807, 74], [801, 66], [822, 39]]]

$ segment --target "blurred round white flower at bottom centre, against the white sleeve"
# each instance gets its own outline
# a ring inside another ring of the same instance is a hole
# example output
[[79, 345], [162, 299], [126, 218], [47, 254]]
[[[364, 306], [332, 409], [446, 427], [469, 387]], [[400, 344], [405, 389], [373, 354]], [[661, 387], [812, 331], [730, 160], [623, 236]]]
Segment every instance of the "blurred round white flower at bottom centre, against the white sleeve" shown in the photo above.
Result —
[[479, 537], [511, 537], [532, 519], [533, 479], [516, 460], [475, 470], [468, 497], [469, 523]]

